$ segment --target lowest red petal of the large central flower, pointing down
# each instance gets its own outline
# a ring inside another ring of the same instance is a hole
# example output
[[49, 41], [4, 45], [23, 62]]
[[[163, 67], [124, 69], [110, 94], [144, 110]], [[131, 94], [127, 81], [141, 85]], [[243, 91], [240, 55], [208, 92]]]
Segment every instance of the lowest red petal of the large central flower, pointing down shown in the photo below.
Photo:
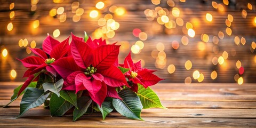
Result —
[[98, 103], [99, 106], [101, 106], [102, 102], [105, 100], [107, 95], [107, 85], [102, 82], [101, 83], [101, 89], [98, 93], [95, 94], [95, 97], [92, 97], [91, 93], [89, 93], [92, 100], [96, 103]]

